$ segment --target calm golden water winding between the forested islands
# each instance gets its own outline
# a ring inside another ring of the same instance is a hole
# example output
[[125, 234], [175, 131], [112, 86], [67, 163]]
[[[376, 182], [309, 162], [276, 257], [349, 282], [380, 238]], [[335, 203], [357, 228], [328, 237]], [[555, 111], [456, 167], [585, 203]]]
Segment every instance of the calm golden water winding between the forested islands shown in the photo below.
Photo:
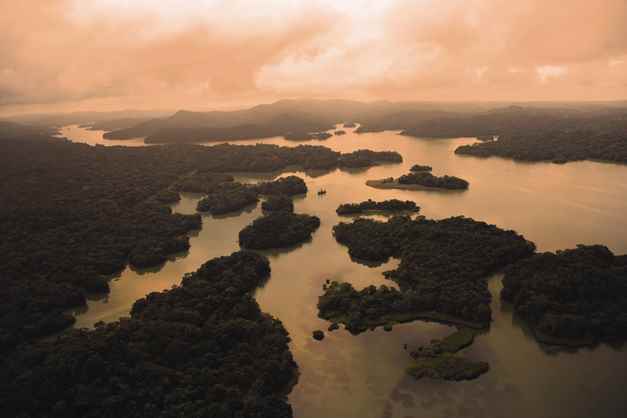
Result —
[[[106, 145], [142, 145], [141, 140], [106, 141], [102, 132], [66, 127], [62, 134], [77, 142]], [[317, 317], [316, 303], [326, 279], [349, 281], [357, 288], [393, 283], [382, 272], [395, 260], [367, 267], [350, 260], [331, 228], [341, 220], [340, 203], [368, 198], [409, 199], [427, 217], [465, 215], [515, 229], [536, 243], [539, 250], [570, 248], [579, 243], [607, 245], [627, 253], [627, 167], [577, 162], [566, 165], [516, 163], [509, 160], [456, 156], [460, 144], [474, 139], [421, 140], [394, 132], [333, 137], [306, 143], [338, 151], [359, 148], [396, 150], [404, 163], [365, 171], [335, 170], [302, 176], [309, 186], [306, 197], [296, 199], [296, 212], [317, 215], [321, 227], [311, 242], [285, 251], [266, 252], [272, 277], [257, 291], [261, 308], [281, 319], [292, 337], [291, 349], [300, 367], [300, 380], [290, 395], [297, 418], [384, 417], [620, 417], [627, 416], [627, 352], [601, 345], [594, 349], [556, 350], [541, 346], [498, 298], [500, 277], [490, 279], [494, 321], [490, 330], [464, 351], [470, 358], [490, 363], [490, 371], [471, 382], [414, 381], [404, 373], [409, 356], [403, 344], [428, 343], [451, 332], [435, 323], [413, 322], [352, 336], [344, 330], [326, 333], [322, 342], [311, 338], [328, 323]], [[255, 141], [240, 141], [254, 143]], [[294, 146], [282, 138], [264, 143]], [[470, 182], [461, 193], [377, 190], [368, 179], [398, 176], [413, 164], [432, 165], [435, 174], [457, 175]], [[285, 175], [285, 174], [282, 174]], [[259, 178], [242, 177], [242, 181]], [[318, 196], [320, 188], [327, 190]], [[173, 206], [176, 212], [194, 213], [199, 195], [185, 194]], [[132, 303], [149, 292], [180, 282], [186, 272], [203, 262], [230, 254], [239, 247], [238, 232], [260, 216], [251, 208], [232, 216], [203, 218], [203, 228], [191, 238], [187, 254], [160, 269], [127, 268], [111, 283], [105, 298], [89, 301], [77, 312], [77, 326], [113, 321], [128, 315]]]

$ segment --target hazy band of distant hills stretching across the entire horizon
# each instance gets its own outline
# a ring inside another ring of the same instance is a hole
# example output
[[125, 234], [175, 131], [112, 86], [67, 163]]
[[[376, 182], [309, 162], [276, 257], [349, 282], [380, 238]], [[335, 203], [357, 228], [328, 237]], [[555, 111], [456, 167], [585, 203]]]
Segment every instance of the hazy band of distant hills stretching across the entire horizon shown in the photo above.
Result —
[[[221, 140], [325, 139], [317, 133], [357, 122], [357, 133], [398, 130], [417, 138], [477, 137], [483, 143], [459, 154], [498, 155], [517, 160], [580, 159], [627, 161], [627, 102], [437, 103], [280, 100], [236, 111], [176, 113], [82, 112], [30, 115], [33, 126], [80, 123], [108, 131], [111, 140], [145, 138], [147, 143]], [[19, 122], [19, 120], [18, 120]], [[6, 132], [20, 131], [7, 125]], [[31, 131], [36, 134], [36, 131]], [[9, 135], [5, 133], [5, 135]], [[498, 141], [493, 141], [495, 136]]]

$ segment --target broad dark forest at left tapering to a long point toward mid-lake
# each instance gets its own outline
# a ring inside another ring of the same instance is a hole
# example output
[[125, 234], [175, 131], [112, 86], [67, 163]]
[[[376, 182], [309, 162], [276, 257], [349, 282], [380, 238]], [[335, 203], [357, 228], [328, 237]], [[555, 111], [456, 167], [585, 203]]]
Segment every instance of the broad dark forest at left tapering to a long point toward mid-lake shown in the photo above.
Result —
[[[201, 227], [201, 218], [171, 213], [168, 205], [180, 191], [209, 193], [232, 182], [223, 174], [231, 171], [335, 169], [401, 160], [391, 152], [341, 154], [312, 146], [92, 147], [18, 133], [0, 138], [3, 352], [71, 325], [73, 317], [64, 312], [84, 304], [86, 293], [108, 291], [108, 279], [128, 263], [157, 266], [187, 249], [187, 233]], [[246, 199], [253, 202], [252, 194]], [[209, 206], [216, 213], [232, 209], [222, 203]]]

